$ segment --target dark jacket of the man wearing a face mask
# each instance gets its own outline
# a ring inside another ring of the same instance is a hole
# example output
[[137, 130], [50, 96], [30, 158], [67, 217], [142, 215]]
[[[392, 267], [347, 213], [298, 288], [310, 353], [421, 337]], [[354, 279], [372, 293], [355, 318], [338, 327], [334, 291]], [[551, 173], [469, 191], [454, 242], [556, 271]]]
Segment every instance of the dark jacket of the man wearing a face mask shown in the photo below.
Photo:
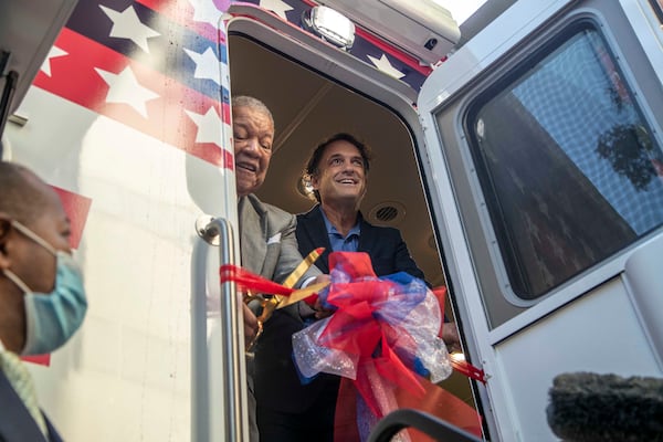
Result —
[[49, 439], [44, 439], [23, 401], [0, 370], [0, 442], [62, 442], [60, 434], [44, 415]]

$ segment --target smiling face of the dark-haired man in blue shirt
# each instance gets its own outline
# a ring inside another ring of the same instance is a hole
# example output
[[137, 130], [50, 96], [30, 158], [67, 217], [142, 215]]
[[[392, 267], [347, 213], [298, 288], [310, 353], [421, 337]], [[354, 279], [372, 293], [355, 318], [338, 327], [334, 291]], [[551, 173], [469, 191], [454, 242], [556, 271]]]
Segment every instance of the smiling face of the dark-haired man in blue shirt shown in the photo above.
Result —
[[359, 206], [366, 193], [366, 170], [359, 149], [349, 141], [330, 143], [312, 177], [313, 188], [324, 204], [352, 203]]

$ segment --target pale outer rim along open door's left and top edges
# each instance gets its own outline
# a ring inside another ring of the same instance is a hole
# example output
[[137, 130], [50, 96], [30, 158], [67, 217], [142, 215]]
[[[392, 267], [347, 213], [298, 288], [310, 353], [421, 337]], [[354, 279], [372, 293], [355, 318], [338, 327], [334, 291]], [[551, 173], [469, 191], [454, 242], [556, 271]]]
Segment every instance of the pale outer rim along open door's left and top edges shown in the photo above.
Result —
[[[492, 63], [503, 56], [514, 44], [533, 32], [550, 14], [564, 8], [562, 0], [522, 0], [506, 10], [501, 19], [467, 42], [427, 80], [419, 95], [418, 106], [425, 135], [425, 149], [430, 162], [428, 173], [433, 188], [435, 215], [440, 223], [443, 248], [449, 259], [450, 276], [460, 307], [460, 315], [467, 336], [472, 360], [481, 365], [488, 378], [487, 386], [480, 389], [487, 424], [493, 440], [516, 441], [517, 417], [513, 413], [513, 397], [505, 385], [498, 360], [491, 343], [488, 318], [484, 312], [478, 282], [474, 273], [466, 232], [461, 220], [449, 173], [449, 165], [440, 146], [435, 112], [444, 102]], [[508, 23], [506, 25], [505, 23]], [[459, 143], [464, 143], [463, 130], [457, 125]], [[522, 439], [523, 440], [523, 439]]]

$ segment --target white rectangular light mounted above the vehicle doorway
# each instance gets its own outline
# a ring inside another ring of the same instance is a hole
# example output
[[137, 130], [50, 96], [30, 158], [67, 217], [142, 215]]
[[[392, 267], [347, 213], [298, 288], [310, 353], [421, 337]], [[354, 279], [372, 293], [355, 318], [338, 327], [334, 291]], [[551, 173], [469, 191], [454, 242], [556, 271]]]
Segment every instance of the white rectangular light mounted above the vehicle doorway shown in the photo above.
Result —
[[304, 28], [323, 40], [343, 49], [355, 43], [355, 24], [344, 14], [327, 7], [314, 7], [302, 17]]

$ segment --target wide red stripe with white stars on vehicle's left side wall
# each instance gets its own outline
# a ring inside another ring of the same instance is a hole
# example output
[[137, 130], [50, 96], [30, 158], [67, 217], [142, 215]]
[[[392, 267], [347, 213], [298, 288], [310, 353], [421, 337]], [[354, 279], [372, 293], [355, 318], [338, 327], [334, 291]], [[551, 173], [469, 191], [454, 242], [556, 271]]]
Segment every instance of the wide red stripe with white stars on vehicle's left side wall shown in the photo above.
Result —
[[[55, 45], [69, 55], [53, 59], [52, 76], [40, 72], [34, 85], [215, 166], [233, 169], [233, 155], [229, 149], [214, 143], [196, 143], [198, 126], [185, 113], [190, 110], [203, 115], [210, 107], [214, 107], [217, 115], [228, 116], [228, 105], [221, 105], [207, 95], [67, 29], [61, 32]], [[108, 85], [95, 69], [117, 74], [127, 66], [130, 66], [143, 87], [159, 95], [158, 98], [146, 102], [148, 118], [127, 104], [105, 102]], [[219, 145], [222, 143], [220, 139]]]

